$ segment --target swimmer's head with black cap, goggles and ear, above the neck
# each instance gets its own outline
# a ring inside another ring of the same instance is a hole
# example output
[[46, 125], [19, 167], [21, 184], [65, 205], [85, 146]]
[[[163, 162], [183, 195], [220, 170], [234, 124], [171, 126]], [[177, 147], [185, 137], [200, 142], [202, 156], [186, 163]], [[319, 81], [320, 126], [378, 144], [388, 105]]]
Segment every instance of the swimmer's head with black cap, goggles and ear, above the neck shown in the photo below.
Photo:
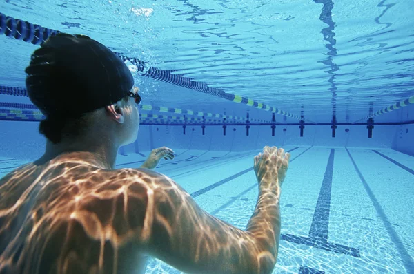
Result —
[[88, 36], [57, 34], [34, 51], [26, 74], [28, 96], [46, 116], [39, 131], [53, 143], [62, 135], [88, 130], [87, 121], [107, 118], [119, 124], [121, 145], [135, 140], [139, 114], [134, 79], [106, 46]]

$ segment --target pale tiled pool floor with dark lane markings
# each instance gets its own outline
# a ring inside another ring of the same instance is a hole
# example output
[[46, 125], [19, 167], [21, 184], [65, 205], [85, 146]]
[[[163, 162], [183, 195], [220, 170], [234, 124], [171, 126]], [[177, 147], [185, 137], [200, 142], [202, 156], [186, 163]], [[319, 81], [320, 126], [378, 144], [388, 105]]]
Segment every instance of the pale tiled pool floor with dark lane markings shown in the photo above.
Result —
[[[273, 273], [414, 273], [414, 157], [391, 149], [284, 147], [282, 240]], [[245, 229], [257, 202], [260, 151], [175, 149], [156, 171], [217, 218]], [[139, 167], [148, 152], [119, 155]], [[27, 161], [0, 157], [0, 178]], [[146, 273], [181, 273], [151, 259]]]

